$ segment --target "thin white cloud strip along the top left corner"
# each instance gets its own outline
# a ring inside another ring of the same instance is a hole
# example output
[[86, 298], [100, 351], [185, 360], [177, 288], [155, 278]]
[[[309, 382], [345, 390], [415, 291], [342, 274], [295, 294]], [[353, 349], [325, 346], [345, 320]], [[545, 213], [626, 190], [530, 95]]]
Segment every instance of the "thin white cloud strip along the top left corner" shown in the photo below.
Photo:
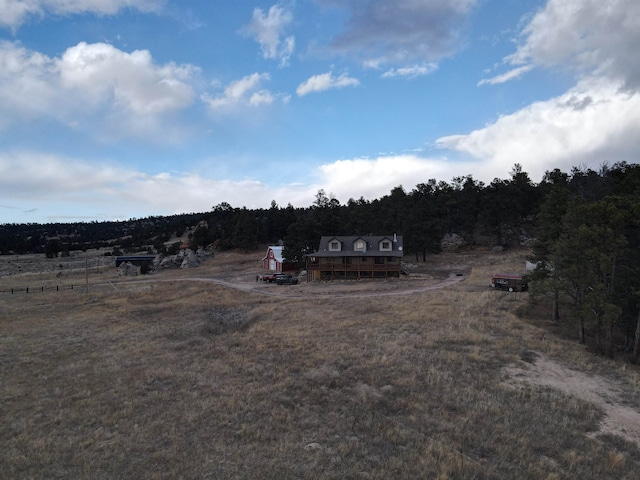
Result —
[[16, 29], [29, 17], [93, 13], [115, 15], [125, 8], [158, 12], [165, 0], [0, 0], [0, 27]]

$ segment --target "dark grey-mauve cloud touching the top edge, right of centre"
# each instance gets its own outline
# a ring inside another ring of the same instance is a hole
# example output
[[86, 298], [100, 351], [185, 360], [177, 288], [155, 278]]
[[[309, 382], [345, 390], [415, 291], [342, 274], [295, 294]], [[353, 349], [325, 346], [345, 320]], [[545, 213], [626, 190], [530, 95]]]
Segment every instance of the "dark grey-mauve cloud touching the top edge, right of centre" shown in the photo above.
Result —
[[345, 30], [332, 43], [335, 51], [371, 62], [407, 64], [451, 55], [462, 44], [462, 31], [477, 0], [317, 0], [349, 10]]

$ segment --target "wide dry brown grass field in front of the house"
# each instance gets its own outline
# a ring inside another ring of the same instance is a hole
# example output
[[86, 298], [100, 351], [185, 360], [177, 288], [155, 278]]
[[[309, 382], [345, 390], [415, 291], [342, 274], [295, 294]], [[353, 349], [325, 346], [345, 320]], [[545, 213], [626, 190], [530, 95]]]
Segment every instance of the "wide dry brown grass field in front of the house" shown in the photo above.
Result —
[[638, 368], [488, 288], [524, 253], [297, 286], [255, 282], [260, 256], [127, 278], [11, 259], [0, 477], [638, 478]]

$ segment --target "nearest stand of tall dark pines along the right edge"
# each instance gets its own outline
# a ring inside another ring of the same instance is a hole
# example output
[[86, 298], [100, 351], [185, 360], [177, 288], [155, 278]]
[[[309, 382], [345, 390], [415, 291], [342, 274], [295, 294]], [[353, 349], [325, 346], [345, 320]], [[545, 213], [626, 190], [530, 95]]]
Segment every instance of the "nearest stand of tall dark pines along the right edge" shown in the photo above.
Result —
[[[532, 297], [601, 354], [640, 360], [640, 169], [554, 172], [535, 217]], [[561, 308], [562, 307], [562, 308]]]

